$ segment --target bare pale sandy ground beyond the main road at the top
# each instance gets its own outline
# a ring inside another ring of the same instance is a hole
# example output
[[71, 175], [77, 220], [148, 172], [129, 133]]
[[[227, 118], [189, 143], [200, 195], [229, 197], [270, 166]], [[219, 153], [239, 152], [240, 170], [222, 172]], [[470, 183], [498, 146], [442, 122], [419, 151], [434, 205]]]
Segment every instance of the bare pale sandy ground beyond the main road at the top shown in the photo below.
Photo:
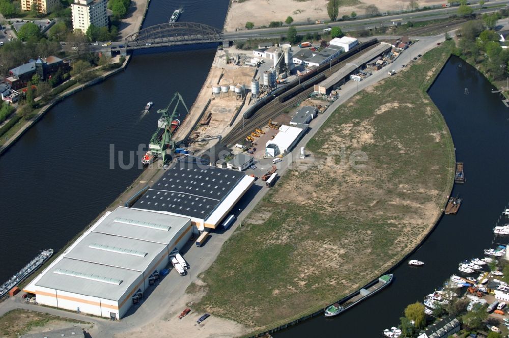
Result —
[[[342, 0], [338, 18], [365, 13], [366, 6], [375, 5], [380, 12], [399, 12], [408, 9], [411, 0]], [[233, 2], [224, 23], [225, 32], [245, 30], [247, 21], [254, 27], [268, 26], [271, 21], [285, 22], [288, 16], [294, 23], [314, 23], [315, 20], [330, 20], [327, 15], [327, 0], [246, 0], [242, 3]], [[420, 8], [445, 4], [445, 0], [418, 0]]]

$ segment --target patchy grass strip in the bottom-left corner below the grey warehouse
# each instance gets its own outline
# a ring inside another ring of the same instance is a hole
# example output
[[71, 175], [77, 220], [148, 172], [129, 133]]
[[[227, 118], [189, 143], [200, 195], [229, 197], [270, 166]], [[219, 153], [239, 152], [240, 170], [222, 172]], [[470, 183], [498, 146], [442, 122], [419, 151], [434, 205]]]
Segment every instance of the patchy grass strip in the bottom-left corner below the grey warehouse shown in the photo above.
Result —
[[29, 332], [34, 327], [48, 326], [56, 322], [83, 324], [77, 321], [62, 317], [56, 317], [49, 314], [16, 309], [0, 317], [0, 336], [3, 338], [17, 338], [20, 335]]

